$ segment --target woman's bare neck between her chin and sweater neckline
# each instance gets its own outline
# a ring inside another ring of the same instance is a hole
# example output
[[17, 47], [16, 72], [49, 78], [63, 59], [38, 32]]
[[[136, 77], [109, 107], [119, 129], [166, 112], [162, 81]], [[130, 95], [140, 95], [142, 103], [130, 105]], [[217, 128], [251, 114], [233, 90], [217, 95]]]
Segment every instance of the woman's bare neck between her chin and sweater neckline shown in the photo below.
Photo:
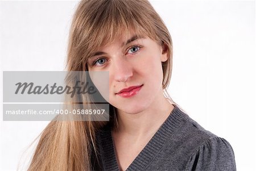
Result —
[[161, 90], [159, 95], [146, 110], [137, 114], [128, 114], [117, 110], [118, 128], [115, 134], [130, 137], [134, 141], [152, 135], [168, 118], [174, 106], [164, 97]]

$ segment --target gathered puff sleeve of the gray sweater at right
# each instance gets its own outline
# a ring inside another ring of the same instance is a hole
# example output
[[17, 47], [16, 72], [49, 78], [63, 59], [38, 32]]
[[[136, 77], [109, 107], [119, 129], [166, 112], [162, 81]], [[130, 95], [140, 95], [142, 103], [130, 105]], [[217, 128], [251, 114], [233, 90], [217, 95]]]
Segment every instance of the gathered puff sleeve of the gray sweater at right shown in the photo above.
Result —
[[233, 148], [224, 138], [212, 137], [192, 153], [186, 170], [236, 170]]

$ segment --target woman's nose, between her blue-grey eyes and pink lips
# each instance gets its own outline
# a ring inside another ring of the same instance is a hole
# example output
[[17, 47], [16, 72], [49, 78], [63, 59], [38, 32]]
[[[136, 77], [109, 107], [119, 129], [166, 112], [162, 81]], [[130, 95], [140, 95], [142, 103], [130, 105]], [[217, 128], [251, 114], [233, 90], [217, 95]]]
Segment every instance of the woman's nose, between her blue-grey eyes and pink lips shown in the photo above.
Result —
[[114, 80], [118, 82], [126, 82], [130, 77], [133, 76], [133, 67], [126, 60], [126, 57], [118, 58], [113, 61], [113, 72]]

